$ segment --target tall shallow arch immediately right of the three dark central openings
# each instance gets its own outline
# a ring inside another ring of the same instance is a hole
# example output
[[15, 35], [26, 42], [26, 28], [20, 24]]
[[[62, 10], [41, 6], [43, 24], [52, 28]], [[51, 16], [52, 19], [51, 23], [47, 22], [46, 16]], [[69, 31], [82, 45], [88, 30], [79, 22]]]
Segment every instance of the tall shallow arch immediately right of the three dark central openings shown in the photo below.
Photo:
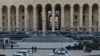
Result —
[[70, 30], [70, 5], [66, 4], [64, 6], [64, 21], [65, 21], [65, 28], [66, 31]]

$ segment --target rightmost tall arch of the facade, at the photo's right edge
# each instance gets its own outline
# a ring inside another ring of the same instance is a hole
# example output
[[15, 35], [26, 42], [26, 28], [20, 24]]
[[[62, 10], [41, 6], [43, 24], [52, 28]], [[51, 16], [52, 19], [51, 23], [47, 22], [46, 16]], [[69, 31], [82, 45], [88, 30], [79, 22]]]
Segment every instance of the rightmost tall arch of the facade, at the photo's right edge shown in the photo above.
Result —
[[93, 4], [92, 5], [92, 30], [93, 31], [98, 31], [98, 21], [99, 21], [99, 6], [98, 4]]

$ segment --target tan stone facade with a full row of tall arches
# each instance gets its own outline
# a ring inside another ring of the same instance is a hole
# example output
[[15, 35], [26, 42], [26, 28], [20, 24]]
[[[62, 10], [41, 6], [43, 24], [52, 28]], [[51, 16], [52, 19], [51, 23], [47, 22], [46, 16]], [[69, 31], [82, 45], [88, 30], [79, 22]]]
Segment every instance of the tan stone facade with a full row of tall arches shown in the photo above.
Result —
[[0, 0], [0, 31], [100, 31], [100, 0]]

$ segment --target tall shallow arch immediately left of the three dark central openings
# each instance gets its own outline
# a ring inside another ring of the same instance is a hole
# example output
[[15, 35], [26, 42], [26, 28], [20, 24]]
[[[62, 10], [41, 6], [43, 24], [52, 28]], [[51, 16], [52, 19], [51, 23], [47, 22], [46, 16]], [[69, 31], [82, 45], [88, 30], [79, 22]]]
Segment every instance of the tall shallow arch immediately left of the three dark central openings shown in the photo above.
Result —
[[27, 7], [27, 11], [28, 11], [28, 30], [32, 31], [33, 30], [33, 6], [32, 5], [28, 5]]

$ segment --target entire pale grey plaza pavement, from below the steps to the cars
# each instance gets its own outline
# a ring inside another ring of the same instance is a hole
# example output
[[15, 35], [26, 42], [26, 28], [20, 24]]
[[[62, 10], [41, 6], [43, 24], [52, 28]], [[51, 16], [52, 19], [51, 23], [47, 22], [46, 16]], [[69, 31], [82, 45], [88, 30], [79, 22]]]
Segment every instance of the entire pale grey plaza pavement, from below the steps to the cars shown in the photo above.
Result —
[[[66, 44], [66, 43], [65, 43]], [[11, 49], [11, 47], [6, 47], [5, 49], [0, 49], [0, 54], [6, 54], [6, 56], [12, 56], [12, 54], [16, 53], [19, 50], [30, 50], [32, 46], [37, 46], [37, 52], [33, 53], [33, 56], [49, 56], [50, 53], [52, 53], [52, 48], [61, 48], [62, 46], [64, 47], [65, 45], [61, 45], [61, 43], [32, 43], [32, 42], [18, 42], [14, 46], [14, 49]], [[40, 49], [39, 49], [40, 48]], [[70, 53], [70, 56], [85, 56], [88, 55], [88, 53], [84, 53], [83, 50], [68, 50]], [[98, 55], [100, 54], [100, 50], [93, 50], [91, 52], [91, 55]]]

